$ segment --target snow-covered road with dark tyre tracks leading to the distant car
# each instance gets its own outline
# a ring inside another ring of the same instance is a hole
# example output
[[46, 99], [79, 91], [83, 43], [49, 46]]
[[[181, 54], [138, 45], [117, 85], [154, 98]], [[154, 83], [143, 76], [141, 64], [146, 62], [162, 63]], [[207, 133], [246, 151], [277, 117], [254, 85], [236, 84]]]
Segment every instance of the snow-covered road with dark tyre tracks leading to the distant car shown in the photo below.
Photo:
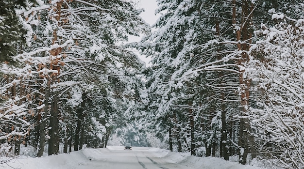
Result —
[[[100, 151], [100, 154], [98, 154]], [[88, 154], [86, 154], [88, 155]], [[133, 147], [133, 150], [97, 149], [92, 160], [77, 169], [186, 169], [174, 163], [168, 163], [157, 157], [157, 152], [148, 148]], [[191, 169], [191, 168], [187, 168]]]

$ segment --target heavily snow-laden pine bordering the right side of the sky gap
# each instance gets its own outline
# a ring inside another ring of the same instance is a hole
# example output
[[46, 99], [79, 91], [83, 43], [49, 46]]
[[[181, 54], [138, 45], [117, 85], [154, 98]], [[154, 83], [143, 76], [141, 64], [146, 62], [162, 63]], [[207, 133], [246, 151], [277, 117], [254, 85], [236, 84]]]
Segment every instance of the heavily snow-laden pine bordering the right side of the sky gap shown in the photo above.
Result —
[[[159, 9], [156, 12], [166, 12], [155, 24], [157, 31], [153, 32], [149, 38], [147, 37], [147, 41], [150, 41], [151, 45], [145, 46], [146, 43], [144, 43], [142, 47], [145, 49], [145, 54], [153, 55], [153, 66], [147, 70], [147, 73], [149, 73], [147, 76], [147, 88], [150, 101], [148, 111], [153, 114], [156, 121], [153, 120], [150, 122], [155, 122], [152, 125], [160, 127], [156, 130], [159, 130], [159, 132], [162, 133], [161, 135], [166, 135], [166, 133], [169, 133], [172, 128], [176, 128], [174, 123], [172, 123], [171, 117], [174, 111], [173, 107], [178, 106], [174, 105], [174, 100], [184, 100], [184, 102], [180, 101], [179, 103], [176, 103], [180, 105], [188, 105], [186, 102], [190, 101], [188, 100], [190, 99], [189, 97], [178, 98], [176, 95], [179, 84], [175, 81], [174, 72], [182, 72], [185, 67], [184, 65], [190, 58], [189, 51], [192, 47], [190, 41], [193, 35], [191, 26], [194, 24], [194, 17], [192, 17], [191, 14], [199, 5], [198, 1], [189, 0], [158, 0], [158, 3]], [[183, 92], [185, 92], [185, 90]], [[186, 114], [192, 112], [192, 105], [188, 105], [187, 108], [183, 110]], [[189, 115], [188, 117], [190, 117], [189, 121], [186, 120], [184, 123], [192, 125], [190, 128], [192, 128], [191, 131], [194, 132], [194, 121], [191, 120], [194, 116]], [[166, 133], [163, 133], [164, 131]], [[191, 136], [192, 141], [190, 143], [190, 147], [193, 148], [191, 152], [192, 154], [195, 154], [194, 133]]]

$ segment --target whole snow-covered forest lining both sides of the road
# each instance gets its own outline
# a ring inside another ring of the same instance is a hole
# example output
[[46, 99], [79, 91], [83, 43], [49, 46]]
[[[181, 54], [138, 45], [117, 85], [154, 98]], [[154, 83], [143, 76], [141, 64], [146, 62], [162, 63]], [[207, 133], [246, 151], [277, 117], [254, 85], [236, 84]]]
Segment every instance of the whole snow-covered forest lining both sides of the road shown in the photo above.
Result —
[[[304, 3], [157, 2], [151, 31], [132, 1], [0, 1], [0, 146], [40, 157], [158, 138], [303, 168]], [[141, 33], [147, 68], [122, 45]]]

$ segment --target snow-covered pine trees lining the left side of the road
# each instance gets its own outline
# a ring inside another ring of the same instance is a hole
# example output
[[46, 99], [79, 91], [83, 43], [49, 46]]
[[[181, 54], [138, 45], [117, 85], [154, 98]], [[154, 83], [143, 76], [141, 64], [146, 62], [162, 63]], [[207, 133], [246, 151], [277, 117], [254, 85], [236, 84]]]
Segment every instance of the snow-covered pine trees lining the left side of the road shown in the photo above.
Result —
[[[1, 67], [8, 74], [1, 90], [1, 98], [8, 100], [3, 105], [19, 104], [14, 116], [21, 112], [26, 125], [18, 124], [19, 133], [13, 131], [16, 127], [5, 126], [11, 130], [1, 133], [1, 141], [15, 149], [26, 142], [37, 148], [39, 157], [45, 145], [50, 155], [59, 153], [59, 143], [64, 143], [65, 153], [68, 146], [69, 152], [72, 146], [76, 151], [84, 144], [106, 146], [120, 127], [117, 119], [125, 116], [123, 108], [138, 97], [140, 84], [133, 81], [140, 81], [134, 75], [142, 63], [118, 43], [126, 41], [128, 34], [149, 30], [138, 16], [141, 10], [119, 0], [37, 2], [22, 8], [18, 16], [33, 32], [32, 45], [23, 46], [14, 57], [22, 68]], [[6, 121], [5, 111], [11, 110], [1, 111]]]

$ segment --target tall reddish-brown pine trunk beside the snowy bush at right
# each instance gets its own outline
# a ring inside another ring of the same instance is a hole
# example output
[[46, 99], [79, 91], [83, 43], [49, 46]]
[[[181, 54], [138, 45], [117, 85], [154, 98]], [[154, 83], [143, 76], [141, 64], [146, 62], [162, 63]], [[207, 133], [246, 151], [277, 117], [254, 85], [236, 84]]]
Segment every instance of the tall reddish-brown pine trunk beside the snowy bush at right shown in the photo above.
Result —
[[[240, 84], [240, 96], [241, 96], [241, 118], [239, 123], [239, 138], [238, 138], [238, 154], [239, 154], [239, 163], [245, 165], [247, 155], [251, 150], [249, 141], [254, 141], [254, 139], [249, 139], [249, 133], [251, 131], [250, 121], [248, 116], [249, 108], [249, 88], [250, 80], [244, 78], [245, 69], [241, 68], [246, 66], [249, 62], [249, 56], [247, 52], [250, 49], [252, 33], [248, 31], [248, 27], [252, 24], [252, 5], [248, 0], [242, 0], [242, 13], [241, 13], [241, 24], [240, 29], [236, 29], [236, 42], [237, 48], [241, 53], [240, 59], [238, 60], [239, 68], [239, 84]], [[236, 25], [236, 0], [232, 0], [233, 4], [233, 21], [232, 23]], [[243, 43], [246, 42], [246, 43]], [[253, 144], [253, 143], [252, 143]]]

